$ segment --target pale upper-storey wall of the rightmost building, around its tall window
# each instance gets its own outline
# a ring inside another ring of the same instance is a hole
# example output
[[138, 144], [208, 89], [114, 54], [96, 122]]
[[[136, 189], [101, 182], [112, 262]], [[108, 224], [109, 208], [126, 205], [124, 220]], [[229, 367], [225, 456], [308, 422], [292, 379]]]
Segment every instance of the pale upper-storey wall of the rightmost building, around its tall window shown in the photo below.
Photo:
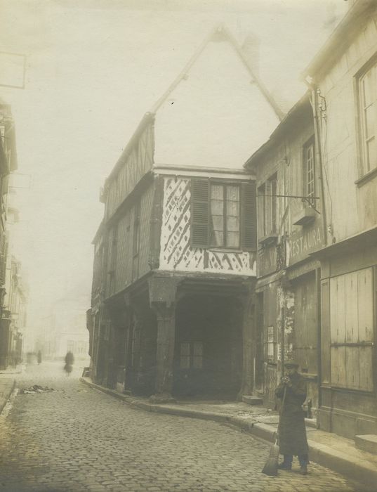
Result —
[[358, 187], [362, 148], [359, 131], [357, 75], [377, 53], [376, 15], [352, 41], [331, 69], [319, 77], [321, 95], [326, 101], [322, 121], [324, 185], [327, 221], [333, 229], [329, 242], [348, 238], [376, 226], [377, 176]]

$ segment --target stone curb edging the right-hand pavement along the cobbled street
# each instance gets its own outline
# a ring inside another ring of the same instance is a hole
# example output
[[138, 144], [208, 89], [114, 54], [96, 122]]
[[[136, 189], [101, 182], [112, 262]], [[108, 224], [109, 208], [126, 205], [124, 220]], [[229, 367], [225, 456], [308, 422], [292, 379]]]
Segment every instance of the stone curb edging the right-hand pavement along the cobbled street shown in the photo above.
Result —
[[[253, 434], [253, 436], [263, 439], [264, 441], [274, 442], [276, 429], [268, 424], [262, 424], [258, 422], [248, 422], [242, 417], [234, 417], [232, 415], [224, 415], [220, 413], [205, 412], [203, 410], [189, 410], [184, 408], [175, 408], [173, 406], [159, 406], [153, 403], [146, 403], [137, 399], [133, 399], [132, 396], [124, 395], [115, 391], [114, 389], [105, 388], [99, 384], [95, 384], [88, 380], [88, 378], [81, 377], [81, 382], [84, 382], [89, 387], [98, 389], [104, 393], [110, 394], [115, 398], [122, 400], [133, 408], [140, 408], [148, 412], [166, 413], [168, 415], [177, 415], [180, 417], [199, 418], [202, 420], [214, 420], [216, 422], [227, 422], [240, 429]], [[341, 453], [336, 449], [326, 446], [325, 444], [319, 444], [315, 441], [307, 440], [309, 445], [310, 460], [316, 462], [318, 465], [322, 465], [334, 472], [345, 475], [351, 480], [359, 481], [365, 484], [366, 487], [371, 487], [372, 491], [376, 490], [377, 483], [377, 470], [369, 463], [362, 462], [352, 458], [346, 453]], [[369, 490], [368, 488], [364, 489]]]

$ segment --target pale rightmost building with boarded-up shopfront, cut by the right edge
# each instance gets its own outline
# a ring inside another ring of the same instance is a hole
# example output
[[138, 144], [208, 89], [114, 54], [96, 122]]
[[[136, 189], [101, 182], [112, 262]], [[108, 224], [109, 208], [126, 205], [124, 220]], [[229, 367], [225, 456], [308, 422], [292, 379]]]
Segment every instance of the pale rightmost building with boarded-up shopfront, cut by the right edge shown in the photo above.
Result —
[[377, 434], [377, 4], [357, 0], [305, 70], [324, 174], [322, 429]]

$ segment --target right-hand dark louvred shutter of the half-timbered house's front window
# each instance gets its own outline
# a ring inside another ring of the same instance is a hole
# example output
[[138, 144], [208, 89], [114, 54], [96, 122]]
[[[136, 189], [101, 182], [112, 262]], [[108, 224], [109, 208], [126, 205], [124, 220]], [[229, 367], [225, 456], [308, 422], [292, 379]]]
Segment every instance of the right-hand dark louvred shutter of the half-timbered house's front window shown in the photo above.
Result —
[[256, 183], [242, 183], [242, 247], [256, 250]]

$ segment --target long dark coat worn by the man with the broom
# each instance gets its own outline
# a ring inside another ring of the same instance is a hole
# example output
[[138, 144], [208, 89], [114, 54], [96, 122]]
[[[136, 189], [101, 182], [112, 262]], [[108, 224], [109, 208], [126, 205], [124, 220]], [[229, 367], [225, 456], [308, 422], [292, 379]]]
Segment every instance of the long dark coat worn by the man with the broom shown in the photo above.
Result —
[[280, 413], [279, 451], [283, 455], [305, 455], [307, 440], [302, 405], [306, 399], [306, 382], [303, 376], [294, 373], [291, 375], [291, 384], [289, 387], [280, 383], [275, 391], [276, 396], [283, 399], [286, 387], [284, 406]]

